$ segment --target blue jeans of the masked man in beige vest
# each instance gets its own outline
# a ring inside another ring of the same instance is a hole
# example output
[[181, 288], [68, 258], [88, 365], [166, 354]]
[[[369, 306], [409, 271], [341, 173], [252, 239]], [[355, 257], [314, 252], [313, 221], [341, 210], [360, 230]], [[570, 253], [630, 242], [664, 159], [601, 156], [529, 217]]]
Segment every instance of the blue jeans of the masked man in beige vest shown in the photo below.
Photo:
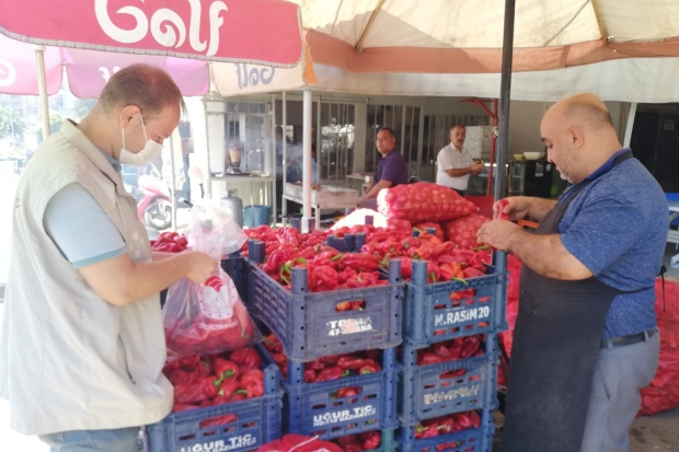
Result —
[[41, 434], [50, 452], [138, 452], [139, 427]]

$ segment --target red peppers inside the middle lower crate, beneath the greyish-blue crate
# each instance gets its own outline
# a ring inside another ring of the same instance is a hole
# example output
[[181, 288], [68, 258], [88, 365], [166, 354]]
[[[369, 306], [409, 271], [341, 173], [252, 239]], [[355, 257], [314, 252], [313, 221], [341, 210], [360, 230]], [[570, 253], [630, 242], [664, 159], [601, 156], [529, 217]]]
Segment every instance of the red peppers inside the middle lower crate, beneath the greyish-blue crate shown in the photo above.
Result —
[[[288, 378], [288, 357], [283, 352], [280, 340], [272, 333], [264, 339], [264, 347], [284, 378]], [[382, 370], [378, 362], [379, 350], [356, 351], [345, 355], [331, 355], [304, 363], [304, 383], [321, 383], [347, 376], [367, 375]], [[352, 397], [360, 393], [360, 387], [343, 387], [335, 397]]]

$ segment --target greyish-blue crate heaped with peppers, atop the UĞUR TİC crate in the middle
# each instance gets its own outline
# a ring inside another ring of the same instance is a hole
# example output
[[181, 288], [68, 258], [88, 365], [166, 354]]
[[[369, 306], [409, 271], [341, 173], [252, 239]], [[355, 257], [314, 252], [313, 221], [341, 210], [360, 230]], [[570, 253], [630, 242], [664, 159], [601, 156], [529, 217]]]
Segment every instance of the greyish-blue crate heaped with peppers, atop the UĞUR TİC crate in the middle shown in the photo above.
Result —
[[[292, 269], [292, 290], [269, 277], [257, 263], [264, 244], [251, 241], [251, 313], [278, 337], [291, 360], [313, 361], [327, 355], [348, 354], [401, 344], [403, 283], [401, 264], [390, 263], [388, 286], [308, 293], [307, 269]], [[335, 311], [346, 301], [364, 301], [360, 311]]]

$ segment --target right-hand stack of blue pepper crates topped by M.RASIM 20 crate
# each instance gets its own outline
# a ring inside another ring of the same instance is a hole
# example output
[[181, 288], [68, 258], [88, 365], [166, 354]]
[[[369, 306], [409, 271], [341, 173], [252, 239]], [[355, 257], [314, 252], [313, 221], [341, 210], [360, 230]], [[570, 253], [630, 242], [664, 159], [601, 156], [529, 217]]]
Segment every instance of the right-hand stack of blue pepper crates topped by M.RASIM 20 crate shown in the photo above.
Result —
[[505, 293], [506, 275], [493, 266], [483, 277], [427, 283], [426, 262], [413, 263], [396, 392], [401, 452], [491, 451]]

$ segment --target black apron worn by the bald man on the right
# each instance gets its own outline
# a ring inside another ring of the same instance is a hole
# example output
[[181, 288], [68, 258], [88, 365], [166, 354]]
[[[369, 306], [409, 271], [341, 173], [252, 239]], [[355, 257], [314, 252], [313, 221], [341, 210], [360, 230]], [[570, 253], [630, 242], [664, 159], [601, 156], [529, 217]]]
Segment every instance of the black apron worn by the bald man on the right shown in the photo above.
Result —
[[[631, 158], [632, 151], [625, 152], [613, 166]], [[557, 234], [568, 205], [589, 182], [566, 193], [566, 200], [544, 216], [536, 233]], [[563, 281], [522, 266], [505, 452], [579, 452], [606, 314], [620, 293], [628, 292], [595, 277]]]

